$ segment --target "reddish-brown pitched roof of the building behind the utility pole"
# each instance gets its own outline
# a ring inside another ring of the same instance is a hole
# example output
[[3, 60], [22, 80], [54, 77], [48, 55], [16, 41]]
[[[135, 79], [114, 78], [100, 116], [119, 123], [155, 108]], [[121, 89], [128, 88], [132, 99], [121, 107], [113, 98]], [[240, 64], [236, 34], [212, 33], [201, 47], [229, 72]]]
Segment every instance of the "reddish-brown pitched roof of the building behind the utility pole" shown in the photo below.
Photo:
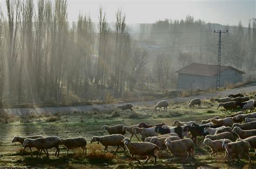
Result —
[[[242, 72], [238, 69], [235, 69], [232, 66], [220, 66], [220, 72], [226, 70], [226, 69], [233, 69], [240, 73]], [[176, 71], [177, 73], [184, 73], [189, 75], [200, 75], [200, 76], [215, 76], [217, 75], [217, 65], [207, 65], [207, 64], [200, 64], [200, 63], [191, 63], [190, 65], [187, 65], [183, 67], [182, 69]]]

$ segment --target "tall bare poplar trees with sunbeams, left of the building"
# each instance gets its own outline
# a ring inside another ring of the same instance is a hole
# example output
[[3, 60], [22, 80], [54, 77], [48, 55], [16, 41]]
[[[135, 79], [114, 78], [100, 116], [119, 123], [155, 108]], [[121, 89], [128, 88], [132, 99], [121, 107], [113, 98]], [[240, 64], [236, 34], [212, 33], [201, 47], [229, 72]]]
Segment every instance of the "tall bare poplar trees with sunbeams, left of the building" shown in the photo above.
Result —
[[0, 105], [61, 102], [70, 92], [86, 100], [90, 86], [96, 86], [100, 99], [106, 88], [116, 97], [134, 89], [148, 54], [134, 45], [121, 10], [111, 30], [102, 8], [98, 24], [80, 14], [70, 25], [66, 0], [39, 0], [37, 9], [33, 3], [6, 0], [0, 22]]

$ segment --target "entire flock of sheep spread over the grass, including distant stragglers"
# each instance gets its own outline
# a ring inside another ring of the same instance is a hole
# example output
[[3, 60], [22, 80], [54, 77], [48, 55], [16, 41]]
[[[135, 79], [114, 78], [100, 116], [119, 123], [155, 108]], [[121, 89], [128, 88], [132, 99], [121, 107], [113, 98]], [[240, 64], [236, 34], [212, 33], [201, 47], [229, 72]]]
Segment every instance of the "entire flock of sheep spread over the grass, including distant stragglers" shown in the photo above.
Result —
[[[241, 93], [230, 94], [226, 98], [215, 98], [215, 101], [219, 102], [219, 106], [223, 106], [226, 110], [233, 110], [240, 106], [241, 111], [230, 114], [225, 118], [213, 117], [207, 120], [201, 121], [201, 124], [197, 124], [196, 121], [182, 122], [179, 120], [174, 121], [173, 126], [165, 125], [164, 123], [156, 125], [147, 125], [145, 123], [139, 123], [133, 126], [114, 125], [102, 127], [109, 135], [106, 136], [93, 136], [90, 143], [101, 143], [107, 151], [108, 146], [117, 146], [114, 153], [116, 153], [119, 147], [123, 147], [124, 154], [126, 149], [131, 154], [131, 160], [139, 159], [136, 156], [147, 156], [145, 163], [153, 157], [154, 164], [156, 164], [159, 151], [170, 151], [172, 156], [180, 156], [182, 153], [186, 153], [186, 159], [191, 155], [194, 158], [194, 144], [197, 144], [197, 137], [203, 137], [203, 145], [211, 148], [212, 154], [216, 155], [219, 152], [225, 152], [225, 157], [228, 157], [228, 162], [234, 160], [237, 157], [239, 160], [241, 154], [245, 153], [248, 156], [249, 163], [251, 163], [250, 149], [256, 148], [256, 112], [254, 110], [255, 102], [248, 97], [244, 97]], [[234, 103], [234, 104], [233, 104]], [[164, 107], [167, 110], [169, 104], [166, 100], [158, 102], [154, 109], [156, 110]], [[188, 107], [201, 105], [200, 99], [192, 99], [188, 104]], [[119, 106], [122, 110], [130, 109], [132, 111], [132, 105], [127, 104]], [[245, 114], [247, 110], [250, 113]], [[129, 132], [130, 138], [125, 138], [124, 134]], [[140, 135], [140, 138], [137, 136]], [[138, 141], [131, 141], [133, 136], [136, 136]], [[238, 139], [235, 139], [237, 137]], [[64, 145], [67, 148], [67, 154], [69, 150], [73, 150], [77, 147], [83, 148], [83, 153], [86, 153], [86, 140], [82, 137], [61, 139], [56, 136], [44, 137], [44, 136], [30, 136], [30, 137], [15, 137], [12, 143], [19, 142], [26, 147], [37, 148], [38, 155], [44, 151], [46, 156], [49, 156], [48, 149], [56, 148], [55, 156], [59, 156], [59, 145]], [[22, 153], [23, 153], [22, 151]], [[255, 152], [256, 153], [256, 152]], [[255, 156], [254, 153], [254, 156]], [[170, 158], [171, 161], [171, 158]], [[130, 163], [129, 162], [129, 163]]]

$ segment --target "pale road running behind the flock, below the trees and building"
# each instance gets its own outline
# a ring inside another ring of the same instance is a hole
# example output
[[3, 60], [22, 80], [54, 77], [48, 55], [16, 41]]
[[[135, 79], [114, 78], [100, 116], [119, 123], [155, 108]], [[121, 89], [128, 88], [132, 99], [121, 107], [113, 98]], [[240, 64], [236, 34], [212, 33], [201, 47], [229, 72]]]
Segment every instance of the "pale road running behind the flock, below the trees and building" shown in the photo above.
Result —
[[[215, 93], [208, 93], [208, 94], [202, 94], [198, 96], [190, 96], [190, 97], [177, 97], [173, 99], [166, 99], [168, 102], [188, 102], [189, 100], [193, 98], [200, 98], [200, 99], [207, 99], [212, 98], [216, 96], [227, 96], [230, 93], [236, 93], [236, 92], [256, 92], [256, 83], [242, 86], [236, 89], [227, 90], [227, 91], [221, 91], [221, 92], [215, 92]], [[160, 99], [159, 99], [160, 100]], [[144, 102], [132, 102], [134, 106], [153, 106], [159, 100], [149, 100]], [[51, 113], [57, 113], [57, 112], [74, 112], [74, 111], [92, 111], [92, 110], [112, 110], [116, 109], [118, 105], [122, 104], [102, 104], [102, 105], [86, 105], [86, 106], [63, 106], [63, 107], [38, 107], [38, 108], [27, 108], [27, 109], [4, 109], [5, 111], [8, 111], [10, 114], [13, 114], [15, 116], [24, 116], [27, 112], [36, 112], [36, 113], [44, 113], [44, 112], [51, 112]]]

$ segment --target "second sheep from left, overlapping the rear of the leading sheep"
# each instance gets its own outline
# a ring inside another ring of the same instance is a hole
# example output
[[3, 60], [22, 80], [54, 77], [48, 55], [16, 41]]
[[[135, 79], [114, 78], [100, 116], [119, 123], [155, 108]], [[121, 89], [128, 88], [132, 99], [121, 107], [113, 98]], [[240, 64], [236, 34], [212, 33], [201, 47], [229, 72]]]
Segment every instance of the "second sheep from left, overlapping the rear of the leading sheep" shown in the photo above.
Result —
[[[37, 150], [41, 150], [39, 151], [39, 156], [42, 152], [42, 150], [45, 152], [46, 156], [49, 157], [49, 153], [47, 151], [47, 149], [49, 148], [56, 148], [56, 152], [55, 152], [55, 156], [58, 155], [59, 156], [59, 145], [62, 144], [62, 140], [60, 140], [59, 137], [57, 136], [50, 136], [50, 137], [44, 137], [44, 138], [36, 138], [36, 139], [30, 139], [30, 138], [26, 138], [23, 142], [23, 147], [36, 147]], [[38, 157], [37, 155], [37, 157]], [[32, 152], [31, 152], [31, 156], [32, 156]]]

